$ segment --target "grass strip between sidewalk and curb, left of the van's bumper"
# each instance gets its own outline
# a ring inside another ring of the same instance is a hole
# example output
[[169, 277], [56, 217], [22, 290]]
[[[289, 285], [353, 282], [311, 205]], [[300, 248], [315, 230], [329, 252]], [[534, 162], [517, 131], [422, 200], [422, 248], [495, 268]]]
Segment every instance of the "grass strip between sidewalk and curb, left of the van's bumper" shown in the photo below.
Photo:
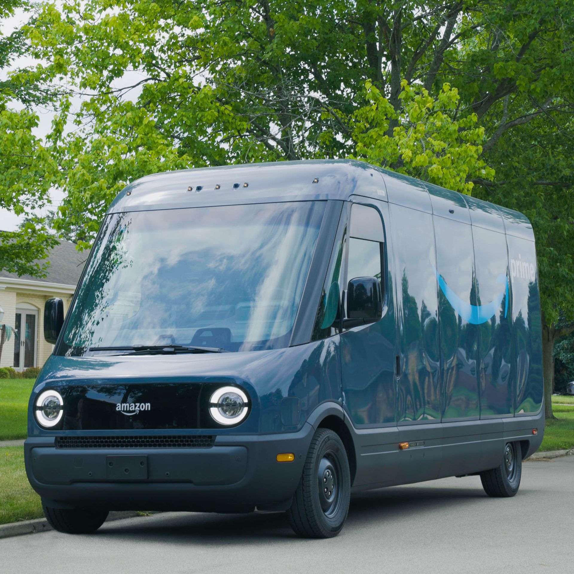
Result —
[[[15, 379], [18, 380], [18, 379]], [[24, 448], [0, 448], [0, 524], [44, 516], [24, 470]]]

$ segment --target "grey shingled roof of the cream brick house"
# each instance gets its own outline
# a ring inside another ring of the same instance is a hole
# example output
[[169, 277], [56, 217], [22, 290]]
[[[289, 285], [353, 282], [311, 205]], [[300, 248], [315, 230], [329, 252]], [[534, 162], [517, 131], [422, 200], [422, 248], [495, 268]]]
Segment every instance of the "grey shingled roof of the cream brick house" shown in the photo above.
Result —
[[33, 277], [17, 273], [7, 273], [0, 271], [0, 281], [3, 278], [21, 279], [25, 281], [38, 281], [40, 283], [55, 283], [60, 285], [71, 285], [75, 287], [82, 275], [86, 260], [90, 255], [89, 251], [80, 253], [76, 250], [76, 244], [69, 241], [59, 241], [58, 244], [48, 253], [46, 258], [49, 261], [46, 269], [46, 277]]

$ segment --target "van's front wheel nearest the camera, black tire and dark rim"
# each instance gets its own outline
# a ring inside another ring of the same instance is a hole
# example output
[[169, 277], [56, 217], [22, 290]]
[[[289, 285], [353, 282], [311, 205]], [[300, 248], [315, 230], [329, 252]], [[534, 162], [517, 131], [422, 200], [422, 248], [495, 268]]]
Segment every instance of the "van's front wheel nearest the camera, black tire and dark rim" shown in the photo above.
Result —
[[347, 519], [350, 499], [351, 473], [343, 442], [332, 430], [318, 429], [287, 511], [291, 528], [305, 538], [337, 536]]

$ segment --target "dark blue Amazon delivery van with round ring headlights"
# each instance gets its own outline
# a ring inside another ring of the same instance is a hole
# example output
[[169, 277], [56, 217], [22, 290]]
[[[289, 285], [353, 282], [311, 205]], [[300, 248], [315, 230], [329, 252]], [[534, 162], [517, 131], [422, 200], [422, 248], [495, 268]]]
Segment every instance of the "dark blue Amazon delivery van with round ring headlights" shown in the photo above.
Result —
[[330, 537], [354, 491], [511, 497], [544, 432], [528, 219], [363, 162], [134, 181], [44, 331], [26, 472], [63, 532], [257, 509]]

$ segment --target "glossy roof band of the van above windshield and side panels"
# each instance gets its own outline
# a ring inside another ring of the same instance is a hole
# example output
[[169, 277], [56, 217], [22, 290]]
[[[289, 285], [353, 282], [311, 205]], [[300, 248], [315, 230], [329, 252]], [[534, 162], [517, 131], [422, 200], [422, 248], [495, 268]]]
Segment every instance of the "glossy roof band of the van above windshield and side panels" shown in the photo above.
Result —
[[353, 195], [534, 239], [528, 218], [517, 211], [357, 160], [277, 161], [154, 173], [122, 189], [108, 213], [348, 200]]

